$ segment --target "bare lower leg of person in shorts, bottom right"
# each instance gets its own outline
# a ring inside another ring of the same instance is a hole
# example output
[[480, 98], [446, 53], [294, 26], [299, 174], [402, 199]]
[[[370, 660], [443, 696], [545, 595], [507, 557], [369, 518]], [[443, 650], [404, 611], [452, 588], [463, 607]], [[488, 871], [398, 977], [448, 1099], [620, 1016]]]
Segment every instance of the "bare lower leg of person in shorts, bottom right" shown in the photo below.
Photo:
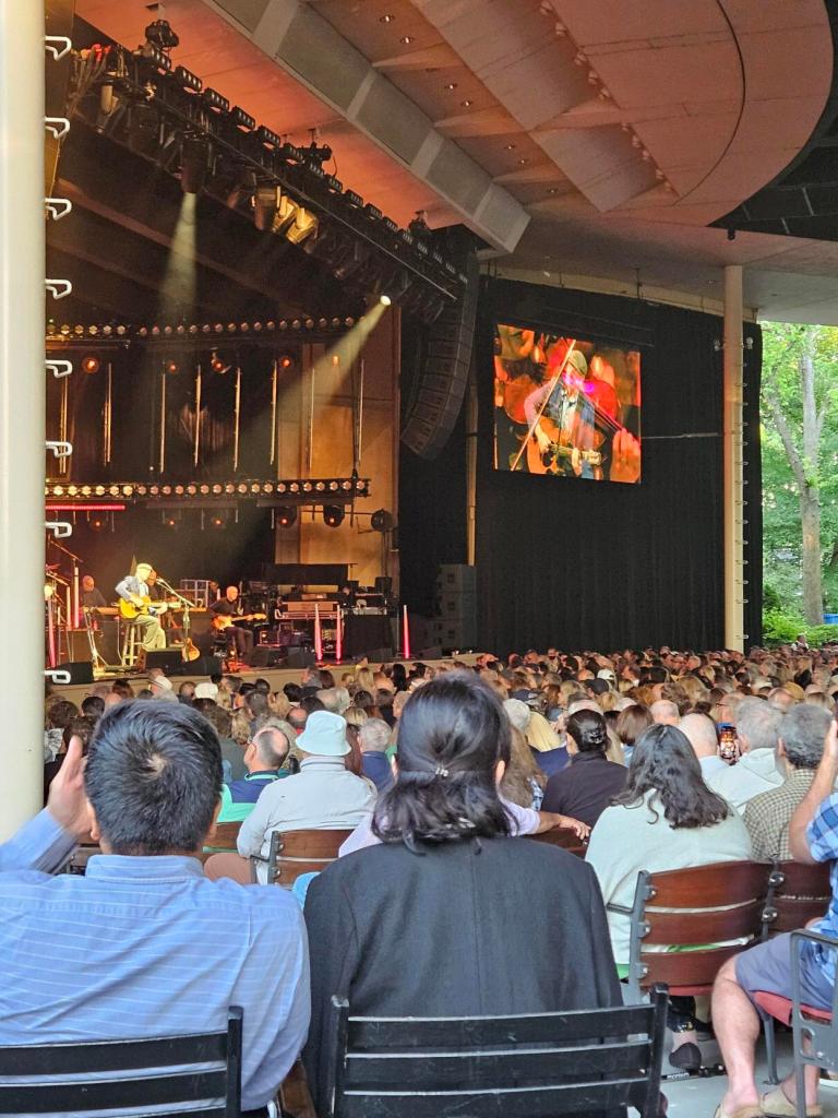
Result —
[[760, 1101], [754, 1079], [760, 1017], [736, 982], [735, 959], [729, 959], [718, 972], [712, 1006], [716, 1040], [727, 1071], [727, 1091], [722, 1108], [733, 1114], [740, 1107], [756, 1106]]

